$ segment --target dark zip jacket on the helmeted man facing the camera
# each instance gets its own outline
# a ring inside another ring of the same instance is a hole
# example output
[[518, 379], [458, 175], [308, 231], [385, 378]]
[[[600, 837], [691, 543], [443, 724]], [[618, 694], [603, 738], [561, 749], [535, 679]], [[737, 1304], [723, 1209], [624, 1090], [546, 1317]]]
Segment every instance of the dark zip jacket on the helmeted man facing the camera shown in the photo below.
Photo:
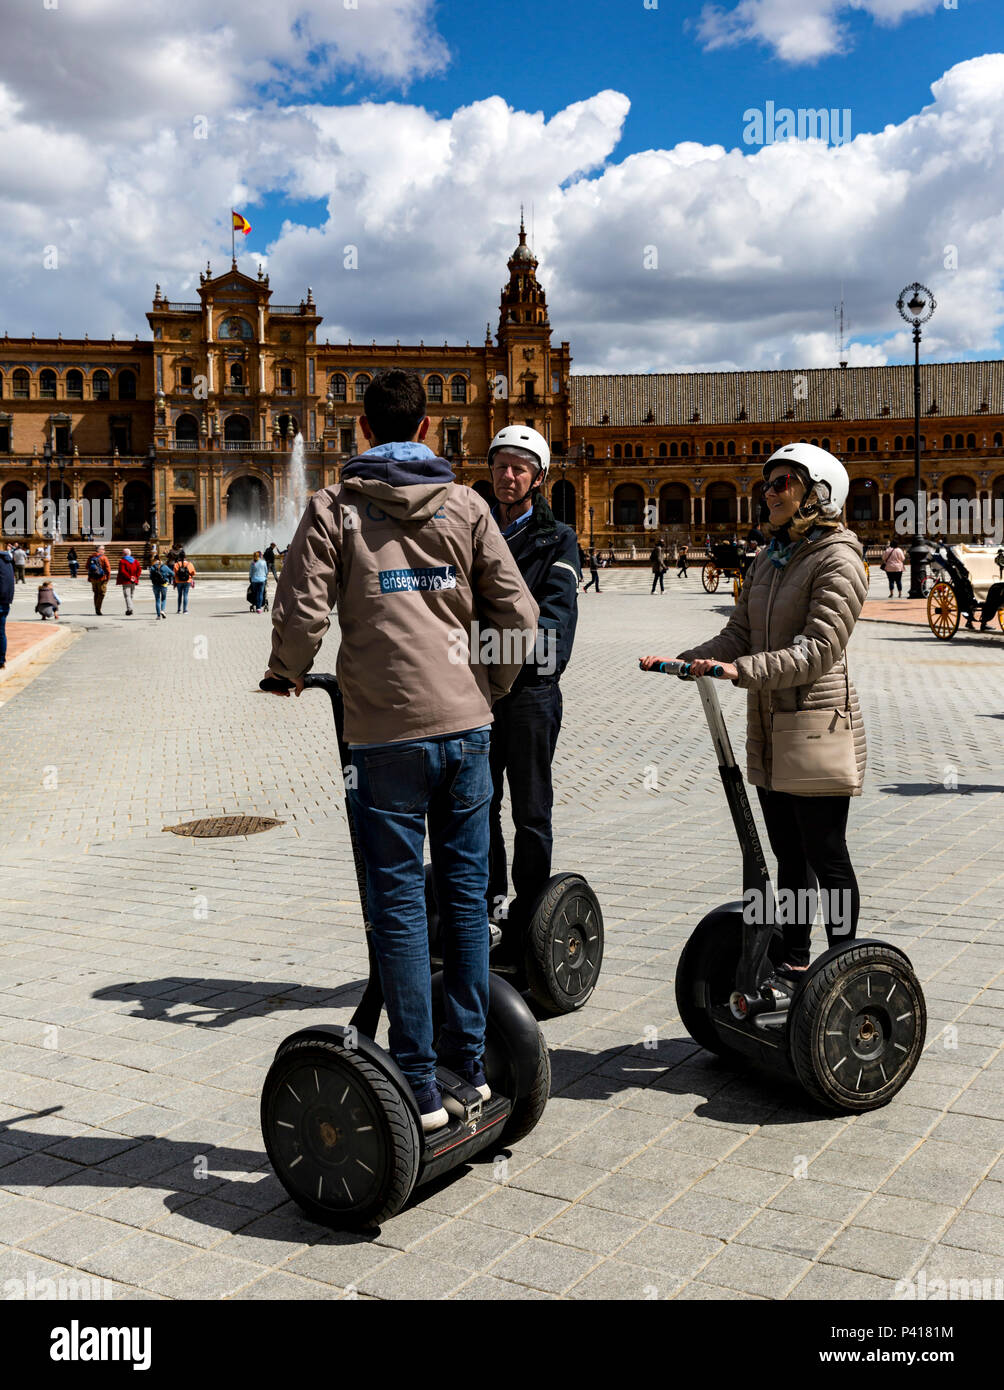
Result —
[[[576, 532], [555, 518], [540, 492], [534, 496], [530, 520], [506, 538], [506, 545], [541, 610], [538, 634], [548, 630], [555, 634], [538, 638], [535, 653], [516, 677], [516, 692], [526, 685], [556, 681], [569, 664], [578, 617], [578, 581], [583, 575]], [[549, 642], [555, 644], [553, 651], [545, 645]]]

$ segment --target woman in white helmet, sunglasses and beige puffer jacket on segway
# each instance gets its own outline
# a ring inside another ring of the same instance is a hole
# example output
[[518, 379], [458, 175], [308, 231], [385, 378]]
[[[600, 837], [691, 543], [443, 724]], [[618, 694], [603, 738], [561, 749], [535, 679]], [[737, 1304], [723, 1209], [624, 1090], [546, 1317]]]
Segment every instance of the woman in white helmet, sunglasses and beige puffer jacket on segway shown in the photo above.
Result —
[[[868, 582], [858, 538], [840, 520], [850, 488], [840, 460], [815, 445], [786, 445], [763, 464], [763, 480], [770, 542], [726, 627], [677, 660], [693, 662], [694, 676], [719, 669], [722, 680], [747, 691], [747, 776], [777, 856], [777, 887], [800, 905], [786, 915], [776, 973], [797, 980], [811, 958], [818, 888], [829, 944], [857, 933], [861, 898], [847, 815], [861, 794], [866, 749], [847, 642]], [[820, 735], [812, 720], [808, 730], [797, 717], [802, 712], [833, 713], [830, 731]]]

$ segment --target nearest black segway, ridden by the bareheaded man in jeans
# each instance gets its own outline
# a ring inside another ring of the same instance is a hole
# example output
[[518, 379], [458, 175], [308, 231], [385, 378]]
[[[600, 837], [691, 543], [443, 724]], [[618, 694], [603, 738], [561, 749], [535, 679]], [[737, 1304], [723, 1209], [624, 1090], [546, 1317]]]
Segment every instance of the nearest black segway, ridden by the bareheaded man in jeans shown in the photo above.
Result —
[[[291, 688], [278, 677], [266, 677], [260, 685], [266, 691]], [[307, 676], [305, 685], [328, 694], [341, 766], [346, 767], [342, 694], [335, 677]], [[366, 923], [366, 991], [348, 1027], [314, 1023], [280, 1044], [261, 1091], [261, 1134], [277, 1177], [311, 1220], [362, 1230], [399, 1212], [413, 1188], [488, 1145], [498, 1152], [528, 1134], [548, 1101], [551, 1059], [526, 1001], [492, 974], [484, 1052], [491, 1098], [483, 1101], [473, 1086], [437, 1066], [439, 1088], [458, 1102], [460, 1115], [423, 1134], [412, 1087], [389, 1052], [374, 1042], [384, 998], [366, 908], [366, 870], [348, 796], [345, 809]], [[444, 1013], [442, 974], [437, 973], [437, 1034]]]

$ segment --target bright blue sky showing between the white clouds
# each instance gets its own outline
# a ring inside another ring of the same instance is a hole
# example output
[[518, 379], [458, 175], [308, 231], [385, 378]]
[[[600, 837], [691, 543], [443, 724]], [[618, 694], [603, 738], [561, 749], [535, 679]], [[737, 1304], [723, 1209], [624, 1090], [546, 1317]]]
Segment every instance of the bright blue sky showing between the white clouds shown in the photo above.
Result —
[[[645, 10], [642, 0], [505, 0], [494, 7], [445, 0], [434, 11], [451, 53], [441, 75], [391, 83], [353, 74], [318, 85], [316, 97], [331, 106], [409, 101], [449, 117], [499, 95], [549, 118], [615, 88], [631, 101], [617, 158], [681, 140], [731, 149], [741, 143], [743, 113], [768, 100], [850, 108], [858, 135], [919, 111], [930, 101], [932, 82], [953, 64], [1004, 50], [1004, 0], [958, 6], [896, 25], [847, 11], [848, 51], [793, 64], [755, 42], [705, 50], [697, 33], [705, 0], [659, 0], [658, 10]], [[271, 240], [285, 217], [320, 227], [327, 204], [268, 197], [249, 210], [249, 246]]]

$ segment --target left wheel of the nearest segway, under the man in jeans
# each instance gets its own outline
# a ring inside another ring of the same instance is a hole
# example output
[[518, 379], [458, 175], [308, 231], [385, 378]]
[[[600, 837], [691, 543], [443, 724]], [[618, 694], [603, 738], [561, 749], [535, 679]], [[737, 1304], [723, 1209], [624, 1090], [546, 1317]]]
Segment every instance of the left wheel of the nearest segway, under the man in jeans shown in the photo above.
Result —
[[399, 1088], [360, 1052], [300, 1038], [280, 1048], [261, 1091], [275, 1175], [321, 1226], [362, 1230], [407, 1201], [420, 1138]]

